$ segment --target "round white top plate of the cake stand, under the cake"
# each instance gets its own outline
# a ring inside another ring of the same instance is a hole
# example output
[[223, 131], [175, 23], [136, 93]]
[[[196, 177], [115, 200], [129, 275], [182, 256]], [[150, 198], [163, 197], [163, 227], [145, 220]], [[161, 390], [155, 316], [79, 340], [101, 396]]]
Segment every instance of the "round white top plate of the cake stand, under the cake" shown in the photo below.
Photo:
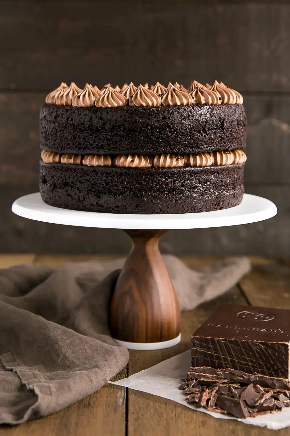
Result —
[[226, 227], [263, 221], [277, 214], [277, 208], [272, 201], [251, 194], [244, 194], [238, 206], [220, 211], [173, 215], [127, 215], [55, 208], [44, 203], [40, 193], [37, 192], [15, 200], [12, 211], [23, 218], [53, 224], [143, 230]]

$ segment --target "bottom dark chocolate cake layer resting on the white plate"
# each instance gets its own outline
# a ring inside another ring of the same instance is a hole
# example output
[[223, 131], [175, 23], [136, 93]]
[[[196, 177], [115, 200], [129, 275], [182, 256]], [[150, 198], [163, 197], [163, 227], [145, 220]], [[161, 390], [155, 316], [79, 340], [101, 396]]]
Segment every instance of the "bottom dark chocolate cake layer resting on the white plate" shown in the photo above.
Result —
[[227, 209], [243, 198], [244, 164], [183, 168], [85, 167], [40, 162], [40, 194], [51, 206], [119, 214]]

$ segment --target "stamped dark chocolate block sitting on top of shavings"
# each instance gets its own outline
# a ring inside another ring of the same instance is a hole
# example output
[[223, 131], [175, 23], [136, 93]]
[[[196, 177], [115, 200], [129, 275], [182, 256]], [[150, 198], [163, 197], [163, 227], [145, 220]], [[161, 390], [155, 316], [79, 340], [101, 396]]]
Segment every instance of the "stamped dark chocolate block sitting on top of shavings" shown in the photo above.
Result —
[[290, 379], [290, 310], [219, 306], [191, 341], [192, 368], [231, 368]]

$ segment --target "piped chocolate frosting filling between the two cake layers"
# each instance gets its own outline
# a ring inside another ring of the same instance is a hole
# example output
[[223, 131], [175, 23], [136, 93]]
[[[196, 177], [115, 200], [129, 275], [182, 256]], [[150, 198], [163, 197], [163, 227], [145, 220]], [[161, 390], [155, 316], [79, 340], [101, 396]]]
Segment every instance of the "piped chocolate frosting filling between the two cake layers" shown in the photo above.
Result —
[[212, 165], [243, 164], [247, 160], [242, 150], [214, 151], [200, 154], [157, 154], [156, 156], [119, 155], [110, 157], [94, 154], [54, 153], [42, 150], [41, 158], [45, 164], [73, 164], [89, 167], [127, 167], [127, 168], [175, 168], [209, 167]]

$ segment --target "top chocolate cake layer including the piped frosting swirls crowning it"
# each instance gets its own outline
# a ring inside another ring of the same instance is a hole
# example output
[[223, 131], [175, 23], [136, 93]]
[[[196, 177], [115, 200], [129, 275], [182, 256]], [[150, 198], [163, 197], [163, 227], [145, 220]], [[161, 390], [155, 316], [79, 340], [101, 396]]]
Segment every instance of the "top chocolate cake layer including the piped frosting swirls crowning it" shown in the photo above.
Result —
[[60, 85], [40, 112], [41, 148], [56, 153], [154, 155], [229, 151], [246, 145], [243, 98], [223, 84], [215, 82], [207, 89], [194, 81], [187, 90], [157, 82], [150, 90], [131, 83], [122, 89]]

